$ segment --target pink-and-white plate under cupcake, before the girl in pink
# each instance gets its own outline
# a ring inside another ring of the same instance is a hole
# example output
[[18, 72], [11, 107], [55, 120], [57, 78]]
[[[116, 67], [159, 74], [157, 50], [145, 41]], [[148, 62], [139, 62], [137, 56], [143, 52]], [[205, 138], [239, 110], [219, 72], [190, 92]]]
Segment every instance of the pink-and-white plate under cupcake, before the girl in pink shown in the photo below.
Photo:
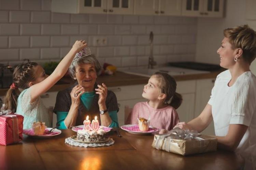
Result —
[[121, 126], [120, 128], [136, 135], [150, 134], [159, 131], [159, 129], [154, 128], [153, 126], [149, 126], [148, 131], [140, 131], [138, 124], [126, 124]]

